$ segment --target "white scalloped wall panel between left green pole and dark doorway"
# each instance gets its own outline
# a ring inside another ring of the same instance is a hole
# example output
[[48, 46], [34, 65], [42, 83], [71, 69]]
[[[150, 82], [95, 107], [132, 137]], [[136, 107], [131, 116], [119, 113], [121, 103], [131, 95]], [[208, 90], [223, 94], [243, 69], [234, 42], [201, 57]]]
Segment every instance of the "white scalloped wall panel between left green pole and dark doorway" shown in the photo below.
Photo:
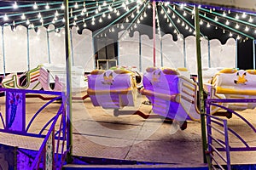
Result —
[[82, 35], [79, 35], [77, 29], [72, 28], [73, 65], [82, 66], [84, 71], [94, 69], [92, 42], [92, 32], [90, 30], [84, 29]]

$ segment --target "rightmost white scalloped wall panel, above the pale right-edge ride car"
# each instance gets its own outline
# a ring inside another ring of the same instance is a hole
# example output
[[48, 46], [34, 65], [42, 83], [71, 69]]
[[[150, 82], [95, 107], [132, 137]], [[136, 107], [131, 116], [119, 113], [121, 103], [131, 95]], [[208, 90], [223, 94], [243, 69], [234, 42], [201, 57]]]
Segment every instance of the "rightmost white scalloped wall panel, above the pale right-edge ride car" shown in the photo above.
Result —
[[211, 40], [211, 67], [236, 67], [236, 41], [230, 39], [225, 45]]

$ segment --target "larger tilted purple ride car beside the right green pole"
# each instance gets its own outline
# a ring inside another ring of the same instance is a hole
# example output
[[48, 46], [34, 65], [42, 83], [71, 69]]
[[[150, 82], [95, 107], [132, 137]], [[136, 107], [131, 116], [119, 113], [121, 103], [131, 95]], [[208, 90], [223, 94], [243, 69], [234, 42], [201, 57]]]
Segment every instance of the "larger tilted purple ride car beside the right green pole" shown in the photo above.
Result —
[[143, 76], [142, 94], [153, 105], [153, 111], [177, 121], [200, 120], [196, 105], [195, 82], [170, 68], [148, 68]]

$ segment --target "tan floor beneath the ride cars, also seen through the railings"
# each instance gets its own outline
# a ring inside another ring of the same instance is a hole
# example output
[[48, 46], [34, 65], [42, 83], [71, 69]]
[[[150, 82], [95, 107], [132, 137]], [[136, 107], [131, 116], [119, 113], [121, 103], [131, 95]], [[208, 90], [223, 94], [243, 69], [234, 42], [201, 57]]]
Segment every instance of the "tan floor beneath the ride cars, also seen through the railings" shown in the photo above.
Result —
[[[2, 97], [3, 98], [3, 97]], [[3, 112], [4, 99], [0, 99]], [[144, 96], [137, 99], [135, 107], [124, 110], [151, 113], [151, 105], [143, 105]], [[45, 101], [27, 99], [26, 111], [30, 117], [32, 111]], [[38, 125], [44, 119], [53, 116], [58, 103], [49, 107], [40, 118]], [[242, 116], [256, 127], [256, 110], [240, 111]], [[29, 118], [28, 118], [29, 119]], [[241, 122], [236, 116], [229, 120], [229, 125], [244, 136], [248, 144], [256, 146], [256, 134]], [[32, 131], [38, 131], [35, 125]], [[42, 139], [29, 139], [19, 135], [1, 133], [0, 142], [38, 150]], [[234, 136], [230, 136], [230, 144], [241, 145]], [[177, 124], [164, 122], [162, 118], [143, 119], [137, 115], [113, 116], [113, 110], [94, 107], [90, 99], [73, 101], [73, 155], [97, 158], [109, 158], [129, 161], [152, 161], [170, 163], [177, 166], [201, 165], [203, 163], [201, 145], [201, 123], [188, 122], [188, 127], [181, 130]], [[233, 164], [256, 162], [255, 152], [232, 153]]]

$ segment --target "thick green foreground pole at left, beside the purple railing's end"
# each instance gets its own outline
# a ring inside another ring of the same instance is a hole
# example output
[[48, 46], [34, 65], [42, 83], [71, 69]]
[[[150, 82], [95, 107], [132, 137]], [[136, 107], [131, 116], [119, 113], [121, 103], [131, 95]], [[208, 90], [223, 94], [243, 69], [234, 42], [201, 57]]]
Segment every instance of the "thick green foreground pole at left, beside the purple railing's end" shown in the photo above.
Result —
[[72, 84], [71, 84], [71, 42], [69, 29], [68, 0], [65, 3], [65, 47], [66, 47], [66, 71], [67, 71], [67, 91], [66, 91], [66, 111], [67, 111], [67, 163], [72, 162], [73, 155], [73, 124], [72, 124]]

